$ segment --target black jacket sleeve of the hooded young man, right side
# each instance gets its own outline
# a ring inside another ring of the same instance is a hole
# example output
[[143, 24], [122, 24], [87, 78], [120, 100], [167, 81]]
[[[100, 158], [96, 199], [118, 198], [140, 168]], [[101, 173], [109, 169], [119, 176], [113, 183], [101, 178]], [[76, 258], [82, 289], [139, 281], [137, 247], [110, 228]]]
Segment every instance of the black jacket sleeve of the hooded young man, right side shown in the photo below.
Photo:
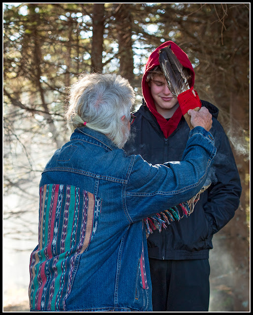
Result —
[[239, 206], [242, 187], [228, 138], [218, 121], [210, 132], [212, 130], [217, 153], [207, 178], [212, 184], [208, 189], [204, 211], [211, 227], [210, 233], [215, 234], [233, 218]]

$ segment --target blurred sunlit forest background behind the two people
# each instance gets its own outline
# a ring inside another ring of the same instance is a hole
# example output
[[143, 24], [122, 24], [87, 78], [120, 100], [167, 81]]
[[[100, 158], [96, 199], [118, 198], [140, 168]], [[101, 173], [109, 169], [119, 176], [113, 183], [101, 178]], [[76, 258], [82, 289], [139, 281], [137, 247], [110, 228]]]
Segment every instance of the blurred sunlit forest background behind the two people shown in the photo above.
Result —
[[214, 235], [209, 311], [248, 312], [250, 3], [6, 2], [3, 33], [3, 310], [29, 310], [38, 184], [70, 136], [66, 88], [82, 72], [117, 73], [138, 108], [148, 56], [173, 40], [190, 58], [200, 99], [220, 110], [243, 187], [235, 217]]

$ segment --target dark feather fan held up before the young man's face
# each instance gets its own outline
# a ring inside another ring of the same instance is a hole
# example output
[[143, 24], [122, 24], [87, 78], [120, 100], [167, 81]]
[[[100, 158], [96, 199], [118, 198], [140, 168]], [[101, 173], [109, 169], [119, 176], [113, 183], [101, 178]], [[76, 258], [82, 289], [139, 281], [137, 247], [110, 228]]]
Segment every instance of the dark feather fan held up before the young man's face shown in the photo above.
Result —
[[177, 97], [180, 93], [190, 89], [183, 72], [183, 65], [171, 50], [170, 45], [159, 50], [159, 63], [173, 96]]

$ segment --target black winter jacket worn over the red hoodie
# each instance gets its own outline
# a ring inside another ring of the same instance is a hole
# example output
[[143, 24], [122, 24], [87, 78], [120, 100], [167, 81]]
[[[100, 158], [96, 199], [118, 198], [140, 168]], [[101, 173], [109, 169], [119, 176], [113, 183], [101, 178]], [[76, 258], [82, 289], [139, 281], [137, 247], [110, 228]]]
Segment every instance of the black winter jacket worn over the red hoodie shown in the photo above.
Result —
[[[241, 183], [228, 138], [218, 122], [217, 107], [207, 101], [202, 106], [213, 115], [210, 132], [215, 138], [217, 154], [208, 180], [211, 186], [200, 195], [188, 218], [172, 222], [148, 238], [149, 256], [157, 259], [207, 259], [213, 248], [212, 237], [234, 216], [239, 206]], [[140, 154], [149, 163], [180, 161], [186, 147], [189, 126], [182, 116], [177, 128], [167, 138], [155, 116], [144, 104], [134, 113], [131, 138], [124, 150], [127, 155]], [[208, 181], [207, 180], [207, 181]]]

